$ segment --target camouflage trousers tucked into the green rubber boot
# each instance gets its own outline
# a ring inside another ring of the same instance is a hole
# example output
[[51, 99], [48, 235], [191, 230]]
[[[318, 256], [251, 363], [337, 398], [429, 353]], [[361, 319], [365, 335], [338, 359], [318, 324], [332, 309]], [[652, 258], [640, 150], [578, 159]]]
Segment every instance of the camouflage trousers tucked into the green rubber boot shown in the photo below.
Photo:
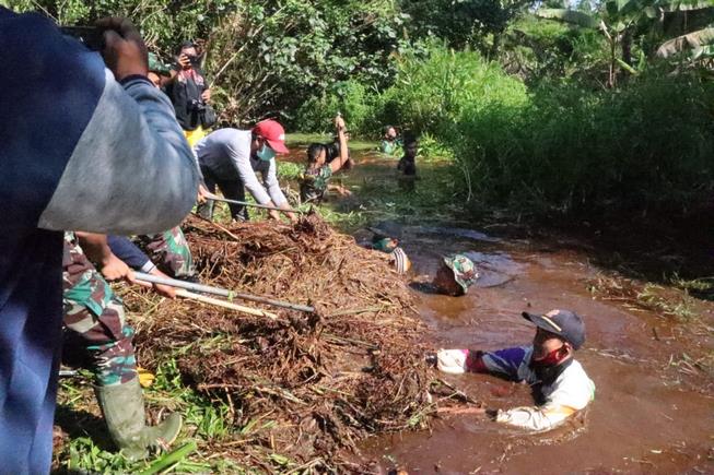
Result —
[[65, 351], [85, 352], [97, 385], [122, 384], [136, 378], [133, 329], [126, 323], [124, 304], [86, 259], [72, 233], [65, 234], [62, 307]]

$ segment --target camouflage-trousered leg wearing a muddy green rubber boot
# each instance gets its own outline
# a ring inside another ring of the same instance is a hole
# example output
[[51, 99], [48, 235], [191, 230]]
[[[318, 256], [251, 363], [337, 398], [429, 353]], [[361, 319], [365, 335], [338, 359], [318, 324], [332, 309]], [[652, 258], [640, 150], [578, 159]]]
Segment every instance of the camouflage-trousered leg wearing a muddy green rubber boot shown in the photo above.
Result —
[[90, 262], [73, 233], [65, 234], [62, 306], [66, 346], [81, 346], [89, 355], [97, 401], [117, 447], [137, 460], [147, 455], [149, 447], [172, 443], [182, 417], [172, 414], [157, 426], [145, 426], [133, 329], [127, 324], [121, 299]]

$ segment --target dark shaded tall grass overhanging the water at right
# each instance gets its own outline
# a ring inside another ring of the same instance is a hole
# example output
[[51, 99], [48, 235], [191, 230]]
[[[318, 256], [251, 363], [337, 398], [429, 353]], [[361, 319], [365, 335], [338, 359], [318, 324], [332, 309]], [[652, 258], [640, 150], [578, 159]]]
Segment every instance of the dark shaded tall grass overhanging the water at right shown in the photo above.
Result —
[[515, 109], [465, 109], [455, 156], [465, 181], [501, 203], [681, 206], [712, 189], [712, 85], [686, 74], [597, 92], [542, 86]]

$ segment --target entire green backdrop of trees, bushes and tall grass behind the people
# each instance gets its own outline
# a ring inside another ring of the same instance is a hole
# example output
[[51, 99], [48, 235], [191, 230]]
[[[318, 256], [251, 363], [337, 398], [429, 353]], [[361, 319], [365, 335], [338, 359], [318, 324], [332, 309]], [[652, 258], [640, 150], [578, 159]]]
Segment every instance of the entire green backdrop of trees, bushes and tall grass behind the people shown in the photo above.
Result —
[[60, 24], [129, 16], [165, 60], [202, 38], [223, 126], [327, 132], [339, 111], [353, 134], [410, 129], [466, 202], [681, 210], [714, 189], [714, 45], [656, 57], [714, 25], [703, 0], [5, 3]]

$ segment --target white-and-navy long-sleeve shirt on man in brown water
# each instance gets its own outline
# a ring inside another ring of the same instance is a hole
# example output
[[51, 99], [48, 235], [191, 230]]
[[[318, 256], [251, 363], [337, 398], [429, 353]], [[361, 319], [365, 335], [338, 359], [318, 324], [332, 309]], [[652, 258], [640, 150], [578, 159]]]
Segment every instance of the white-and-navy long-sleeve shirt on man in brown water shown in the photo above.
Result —
[[[528, 384], [540, 382], [530, 368], [532, 346], [482, 353], [482, 365], [476, 364], [476, 354], [477, 352], [468, 349], [441, 349], [436, 355], [438, 369], [450, 373], [485, 371]], [[540, 387], [540, 394], [543, 404], [499, 411], [496, 420], [535, 431], [553, 429], [593, 401], [595, 383], [587, 377], [581, 364], [573, 360], [552, 383]]]

